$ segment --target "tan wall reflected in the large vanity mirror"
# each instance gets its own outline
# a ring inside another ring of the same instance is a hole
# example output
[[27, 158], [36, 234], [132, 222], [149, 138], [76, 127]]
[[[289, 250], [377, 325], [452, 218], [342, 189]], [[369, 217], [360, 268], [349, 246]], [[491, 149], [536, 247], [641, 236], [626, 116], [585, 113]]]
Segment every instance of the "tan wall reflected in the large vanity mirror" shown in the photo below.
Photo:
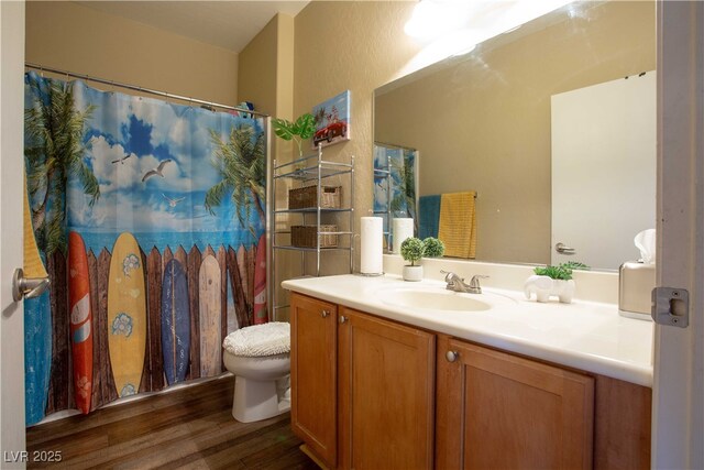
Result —
[[[653, 70], [654, 15], [654, 1], [575, 2], [385, 85], [374, 139], [422, 153], [419, 196], [477, 192], [477, 260], [549, 263], [551, 97]], [[642, 229], [654, 227], [654, 197], [641, 204], [653, 214]], [[637, 259], [631, 249], [593, 267]]]

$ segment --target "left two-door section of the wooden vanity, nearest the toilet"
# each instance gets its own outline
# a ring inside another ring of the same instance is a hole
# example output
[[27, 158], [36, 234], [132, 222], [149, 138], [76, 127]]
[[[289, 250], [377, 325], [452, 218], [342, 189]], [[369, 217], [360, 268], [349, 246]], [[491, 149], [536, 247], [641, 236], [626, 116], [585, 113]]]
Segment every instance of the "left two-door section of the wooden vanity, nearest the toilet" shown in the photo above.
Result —
[[292, 426], [308, 450], [328, 468], [432, 468], [435, 335], [299, 294], [290, 305]]

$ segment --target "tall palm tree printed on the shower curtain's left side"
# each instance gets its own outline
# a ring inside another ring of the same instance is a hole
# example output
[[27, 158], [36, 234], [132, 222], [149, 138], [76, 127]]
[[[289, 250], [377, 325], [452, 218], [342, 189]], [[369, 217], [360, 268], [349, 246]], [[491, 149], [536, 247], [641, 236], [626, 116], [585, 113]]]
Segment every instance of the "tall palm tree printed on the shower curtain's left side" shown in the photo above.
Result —
[[100, 186], [86, 164], [84, 134], [95, 109], [82, 112], [74, 101], [74, 86], [28, 75], [32, 107], [24, 110], [26, 179], [32, 222], [38, 248], [46, 255], [66, 252], [66, 186], [77, 177], [92, 206]]

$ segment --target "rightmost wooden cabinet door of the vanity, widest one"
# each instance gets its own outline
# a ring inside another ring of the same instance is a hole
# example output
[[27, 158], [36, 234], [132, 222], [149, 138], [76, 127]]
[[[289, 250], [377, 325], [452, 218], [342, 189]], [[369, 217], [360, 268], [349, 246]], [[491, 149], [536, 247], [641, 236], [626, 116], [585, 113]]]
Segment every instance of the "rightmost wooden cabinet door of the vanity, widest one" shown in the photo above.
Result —
[[437, 468], [592, 468], [593, 378], [448, 337], [438, 343]]

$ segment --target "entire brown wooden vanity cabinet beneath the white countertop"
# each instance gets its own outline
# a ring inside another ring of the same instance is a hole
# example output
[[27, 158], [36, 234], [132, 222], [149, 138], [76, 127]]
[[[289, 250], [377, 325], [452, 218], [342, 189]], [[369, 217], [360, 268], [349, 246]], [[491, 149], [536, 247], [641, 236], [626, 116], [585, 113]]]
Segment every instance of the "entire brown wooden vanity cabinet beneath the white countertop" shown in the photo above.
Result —
[[651, 390], [292, 293], [292, 426], [339, 469], [649, 469]]

